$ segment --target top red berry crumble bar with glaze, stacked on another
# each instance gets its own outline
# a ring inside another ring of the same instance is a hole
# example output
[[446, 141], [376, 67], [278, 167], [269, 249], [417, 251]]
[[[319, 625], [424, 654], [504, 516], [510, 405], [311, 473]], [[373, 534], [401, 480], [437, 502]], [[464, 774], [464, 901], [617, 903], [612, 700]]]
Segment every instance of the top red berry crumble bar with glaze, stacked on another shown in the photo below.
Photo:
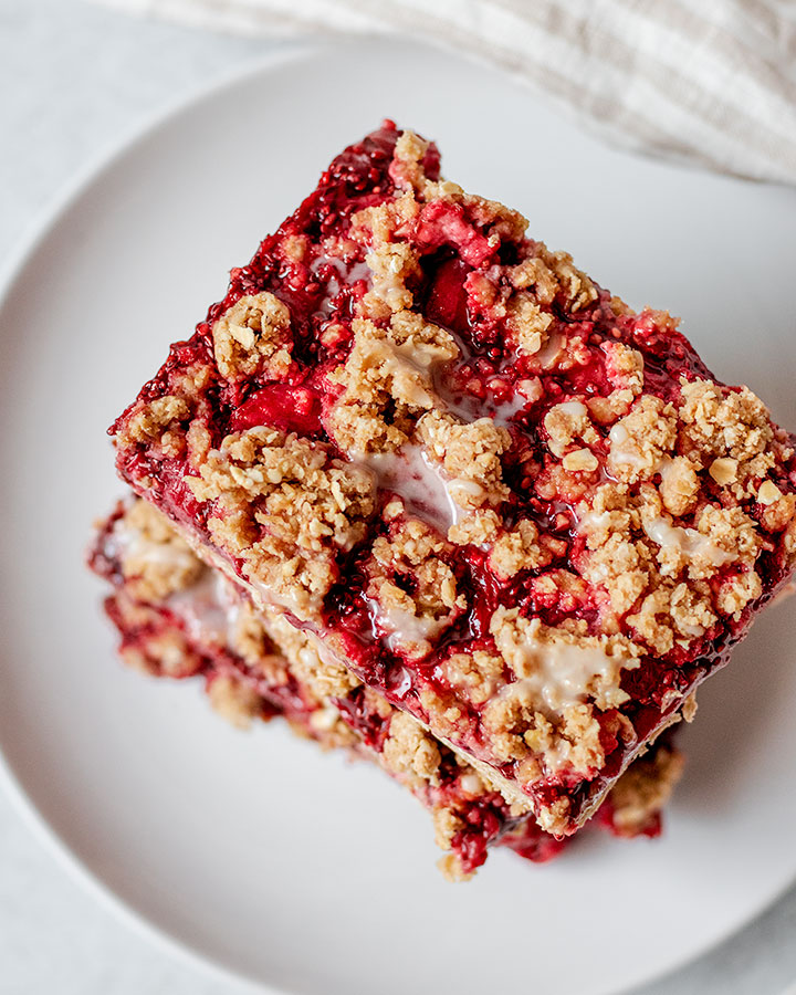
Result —
[[436, 750], [505, 825], [566, 837], [790, 574], [794, 447], [668, 314], [525, 229], [387, 122], [113, 432], [122, 476], [306, 643], [339, 714], [367, 699], [429, 744], [420, 767]]

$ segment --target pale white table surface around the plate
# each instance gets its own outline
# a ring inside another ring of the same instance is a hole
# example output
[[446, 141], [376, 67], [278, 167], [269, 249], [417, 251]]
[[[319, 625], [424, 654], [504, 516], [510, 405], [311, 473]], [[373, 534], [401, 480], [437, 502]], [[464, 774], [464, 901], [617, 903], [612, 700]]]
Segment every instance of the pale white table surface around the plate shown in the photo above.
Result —
[[[0, 0], [0, 269], [77, 170], [165, 104], [273, 49], [261, 40], [130, 20], [78, 0]], [[643, 995], [779, 995], [795, 977], [796, 889]], [[117, 922], [0, 794], [0, 995], [250, 991]]]

